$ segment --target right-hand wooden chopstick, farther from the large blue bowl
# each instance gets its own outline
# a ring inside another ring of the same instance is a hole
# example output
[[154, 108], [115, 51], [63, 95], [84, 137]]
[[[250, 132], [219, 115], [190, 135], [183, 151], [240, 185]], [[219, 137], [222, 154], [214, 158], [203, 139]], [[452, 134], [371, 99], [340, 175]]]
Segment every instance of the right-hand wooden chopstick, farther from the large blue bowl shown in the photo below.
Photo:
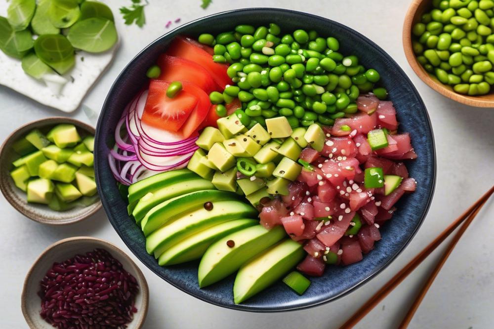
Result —
[[402, 329], [402, 328], [407, 328], [408, 327], [408, 325], [410, 324], [410, 321], [412, 321], [413, 315], [415, 314], [415, 312], [417, 311], [418, 307], [420, 306], [420, 303], [424, 299], [425, 294], [427, 293], [427, 290], [429, 290], [429, 288], [432, 286], [432, 283], [434, 282], [434, 279], [436, 279], [437, 275], [439, 274], [439, 271], [441, 270], [441, 268], [443, 267], [443, 265], [446, 263], [446, 260], [448, 259], [449, 255], [453, 251], [454, 246], [460, 240], [461, 236], [463, 235], [463, 233], [465, 233], [466, 229], [468, 228], [468, 225], [470, 225], [470, 223], [473, 221], [473, 219], [475, 218], [475, 216], [479, 213], [480, 209], [482, 208], [482, 206], [484, 206], [484, 204], [486, 202], [487, 202], [487, 199], [484, 200], [484, 202], [481, 203], [470, 214], [470, 216], [468, 216], [468, 218], [466, 219], [465, 223], [463, 225], [461, 225], [461, 227], [459, 228], [458, 232], [454, 235], [453, 240], [451, 241], [451, 243], [448, 246], [448, 248], [444, 251], [443, 255], [441, 256], [441, 259], [439, 260], [438, 264], [434, 268], [434, 271], [432, 271], [429, 279], [427, 279], [427, 281], [425, 282], [425, 284], [422, 287], [422, 289], [420, 289], [420, 293], [418, 294], [418, 296], [413, 301], [412, 306], [410, 306], [410, 309], [408, 310], [408, 313], [405, 316], [405, 318], [403, 319], [403, 321], [402, 321], [402, 323], [401, 323], [401, 325], [400, 325], [399, 328]]

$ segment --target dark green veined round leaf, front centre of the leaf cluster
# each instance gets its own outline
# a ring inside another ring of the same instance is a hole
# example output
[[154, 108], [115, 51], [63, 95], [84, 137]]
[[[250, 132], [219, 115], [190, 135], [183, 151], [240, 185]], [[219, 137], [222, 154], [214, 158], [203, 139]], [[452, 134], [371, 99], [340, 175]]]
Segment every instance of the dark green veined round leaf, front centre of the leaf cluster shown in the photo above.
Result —
[[47, 65], [64, 74], [75, 64], [74, 47], [60, 34], [45, 34], [34, 42], [36, 55]]

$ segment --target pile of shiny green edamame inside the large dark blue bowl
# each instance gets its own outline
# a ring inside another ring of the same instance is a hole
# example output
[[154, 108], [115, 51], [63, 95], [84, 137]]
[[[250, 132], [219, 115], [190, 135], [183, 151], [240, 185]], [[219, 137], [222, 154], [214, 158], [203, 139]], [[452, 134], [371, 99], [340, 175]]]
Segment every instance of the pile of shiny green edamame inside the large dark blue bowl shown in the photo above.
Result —
[[238, 97], [242, 109], [236, 113], [247, 127], [265, 126], [265, 119], [278, 116], [287, 117], [292, 127], [332, 125], [357, 112], [361, 92], [387, 97], [386, 89], [374, 87], [380, 79], [376, 70], [364, 68], [354, 55], [344, 56], [337, 39], [316, 31], [282, 35], [274, 23], [238, 25], [216, 37], [202, 34], [199, 42], [213, 46], [215, 62], [230, 64], [227, 74], [235, 82], [209, 95], [216, 113], [226, 116], [223, 103]]

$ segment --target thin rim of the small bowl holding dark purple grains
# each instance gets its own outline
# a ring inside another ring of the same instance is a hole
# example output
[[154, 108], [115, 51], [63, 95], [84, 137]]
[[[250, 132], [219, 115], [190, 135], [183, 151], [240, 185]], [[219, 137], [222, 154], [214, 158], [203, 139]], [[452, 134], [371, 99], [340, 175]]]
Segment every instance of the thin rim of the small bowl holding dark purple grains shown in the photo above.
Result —
[[[148, 306], [149, 306], [149, 287], [148, 287], [148, 283], [146, 281], [146, 277], [142, 273], [141, 269], [137, 266], [137, 264], [120, 247], [117, 247], [116, 245], [112, 244], [111, 242], [108, 242], [108, 241], [105, 241], [102, 239], [93, 238], [93, 237], [86, 237], [86, 236], [66, 238], [66, 239], [59, 240], [59, 241], [49, 245], [48, 247], [46, 247], [41, 252], [41, 254], [33, 262], [33, 265], [31, 265], [31, 267], [29, 268], [29, 271], [26, 274], [26, 277], [24, 278], [24, 283], [22, 285], [22, 292], [21, 292], [22, 315], [24, 316], [24, 319], [26, 320], [26, 323], [28, 324], [29, 328], [37, 329], [35, 324], [32, 322], [31, 316], [30, 316], [30, 314], [27, 310], [27, 307], [26, 307], [26, 302], [27, 302], [27, 298], [28, 298], [27, 297], [27, 294], [28, 294], [27, 286], [28, 286], [28, 283], [31, 279], [31, 276], [33, 274], [35, 267], [41, 265], [41, 261], [43, 260], [43, 258], [46, 256], [46, 254], [49, 251], [51, 251], [54, 248], [61, 247], [64, 244], [71, 243], [74, 241], [101, 243], [102, 245], [105, 245], [106, 247], [108, 247], [108, 249], [110, 249], [108, 251], [118, 252], [120, 256], [125, 258], [131, 264], [131, 266], [133, 267], [133, 269], [137, 273], [138, 278], [136, 278], [136, 279], [138, 281], [142, 282], [142, 285], [140, 285], [140, 287], [139, 287], [139, 292], [142, 293], [142, 305], [141, 305], [141, 309], [140, 309], [140, 310], [142, 310], [142, 316], [139, 319], [137, 319], [138, 323], [137, 323], [137, 327], [136, 327], [136, 329], [141, 329], [144, 326], [144, 322], [145, 322], [146, 316], [148, 314]], [[140, 310], [138, 311], [139, 313], [141, 313]], [[136, 319], [134, 318], [134, 320], [136, 320]]]

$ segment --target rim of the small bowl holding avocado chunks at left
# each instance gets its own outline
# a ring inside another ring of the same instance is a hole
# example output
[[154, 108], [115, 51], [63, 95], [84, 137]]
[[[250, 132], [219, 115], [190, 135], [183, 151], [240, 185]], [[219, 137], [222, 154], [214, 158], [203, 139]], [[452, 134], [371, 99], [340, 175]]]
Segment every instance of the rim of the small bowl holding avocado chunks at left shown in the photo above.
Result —
[[[91, 126], [91, 125], [89, 125], [87, 123], [84, 123], [82, 121], [79, 121], [77, 119], [66, 118], [66, 117], [48, 117], [48, 118], [37, 119], [37, 120], [31, 121], [31, 122], [28, 122], [28, 123], [24, 123], [20, 127], [17, 127], [14, 131], [12, 131], [7, 136], [7, 138], [5, 138], [5, 140], [3, 141], [3, 143], [0, 146], [0, 159], [7, 154], [7, 152], [9, 151], [9, 150], [7, 150], [7, 147], [6, 147], [7, 144], [9, 144], [9, 142], [11, 141], [11, 139], [13, 137], [15, 137], [19, 133], [19, 131], [21, 131], [21, 130], [29, 130], [29, 128], [31, 126], [33, 126], [33, 125], [36, 125], [38, 123], [49, 122], [49, 121], [54, 121], [53, 125], [56, 125], [56, 124], [62, 123], [62, 122], [64, 122], [64, 123], [72, 123], [72, 124], [76, 125], [77, 127], [82, 128], [82, 129], [88, 131], [89, 133], [91, 133], [93, 135], [96, 135], [96, 129], [93, 126]], [[49, 125], [49, 124], [47, 124], [47, 125]], [[0, 184], [0, 191], [1, 191], [2, 195], [3, 195], [3, 197], [8, 201], [8, 203], [11, 206], [13, 206], [18, 212], [20, 212], [21, 214], [23, 214], [27, 218], [29, 218], [29, 219], [37, 222], [37, 223], [47, 224], [47, 225], [52, 225], [52, 226], [70, 225], [70, 224], [74, 224], [74, 223], [80, 222], [80, 221], [82, 221], [84, 219], [87, 219], [87, 218], [91, 217], [98, 210], [100, 210], [102, 208], [102, 206], [103, 206], [102, 203], [101, 203], [101, 199], [100, 199], [97, 202], [95, 202], [94, 204], [91, 204], [89, 206], [83, 207], [82, 209], [86, 209], [88, 207], [91, 207], [91, 206], [96, 205], [95, 207], [93, 207], [92, 210], [85, 212], [81, 216], [77, 216], [77, 217], [74, 217], [72, 219], [68, 219], [68, 220], [63, 221], [63, 222], [57, 221], [57, 220], [45, 220], [42, 217], [38, 217], [32, 211], [28, 211], [26, 209], [26, 207], [13, 202], [13, 200], [10, 197], [7, 197], [8, 191], [5, 189], [5, 187], [4, 187], [3, 184]], [[51, 210], [51, 211], [55, 212], [55, 210]]]

